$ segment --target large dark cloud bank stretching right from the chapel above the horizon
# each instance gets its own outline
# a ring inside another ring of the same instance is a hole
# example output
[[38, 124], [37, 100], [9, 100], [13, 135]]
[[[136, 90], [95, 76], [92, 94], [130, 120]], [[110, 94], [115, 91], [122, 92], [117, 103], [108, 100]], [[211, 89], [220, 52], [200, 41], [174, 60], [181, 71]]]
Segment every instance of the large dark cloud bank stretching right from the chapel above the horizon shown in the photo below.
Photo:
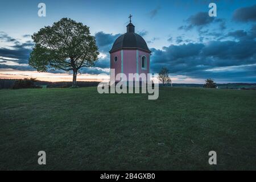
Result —
[[[152, 48], [151, 51], [152, 72], [159, 72], [160, 68], [167, 67], [174, 75], [192, 78], [239, 80], [238, 77], [241, 79], [243, 77], [246, 80], [247, 76], [251, 79], [254, 77], [256, 81], [254, 66], [256, 65], [256, 42], [254, 40], [188, 43], [163, 47], [163, 50]], [[218, 71], [220, 67], [229, 68], [229, 71]]]

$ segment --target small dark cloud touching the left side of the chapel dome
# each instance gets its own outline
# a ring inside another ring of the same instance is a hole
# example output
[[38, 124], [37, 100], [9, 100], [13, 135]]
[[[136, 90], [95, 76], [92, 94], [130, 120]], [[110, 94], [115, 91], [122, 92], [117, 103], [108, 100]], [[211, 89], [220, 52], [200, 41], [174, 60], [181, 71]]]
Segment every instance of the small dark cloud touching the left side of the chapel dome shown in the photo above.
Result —
[[95, 34], [96, 43], [100, 52], [109, 52], [115, 39], [118, 38], [121, 34], [106, 34], [105, 32], [97, 32]]

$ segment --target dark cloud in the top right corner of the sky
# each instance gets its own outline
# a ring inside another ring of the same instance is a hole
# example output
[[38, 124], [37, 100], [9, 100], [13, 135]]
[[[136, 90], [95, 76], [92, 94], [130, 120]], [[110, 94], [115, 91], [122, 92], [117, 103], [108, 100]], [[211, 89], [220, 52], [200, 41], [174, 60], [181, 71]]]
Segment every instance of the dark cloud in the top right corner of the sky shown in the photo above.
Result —
[[255, 22], [256, 21], [256, 5], [242, 7], [233, 13], [233, 19], [238, 22]]

